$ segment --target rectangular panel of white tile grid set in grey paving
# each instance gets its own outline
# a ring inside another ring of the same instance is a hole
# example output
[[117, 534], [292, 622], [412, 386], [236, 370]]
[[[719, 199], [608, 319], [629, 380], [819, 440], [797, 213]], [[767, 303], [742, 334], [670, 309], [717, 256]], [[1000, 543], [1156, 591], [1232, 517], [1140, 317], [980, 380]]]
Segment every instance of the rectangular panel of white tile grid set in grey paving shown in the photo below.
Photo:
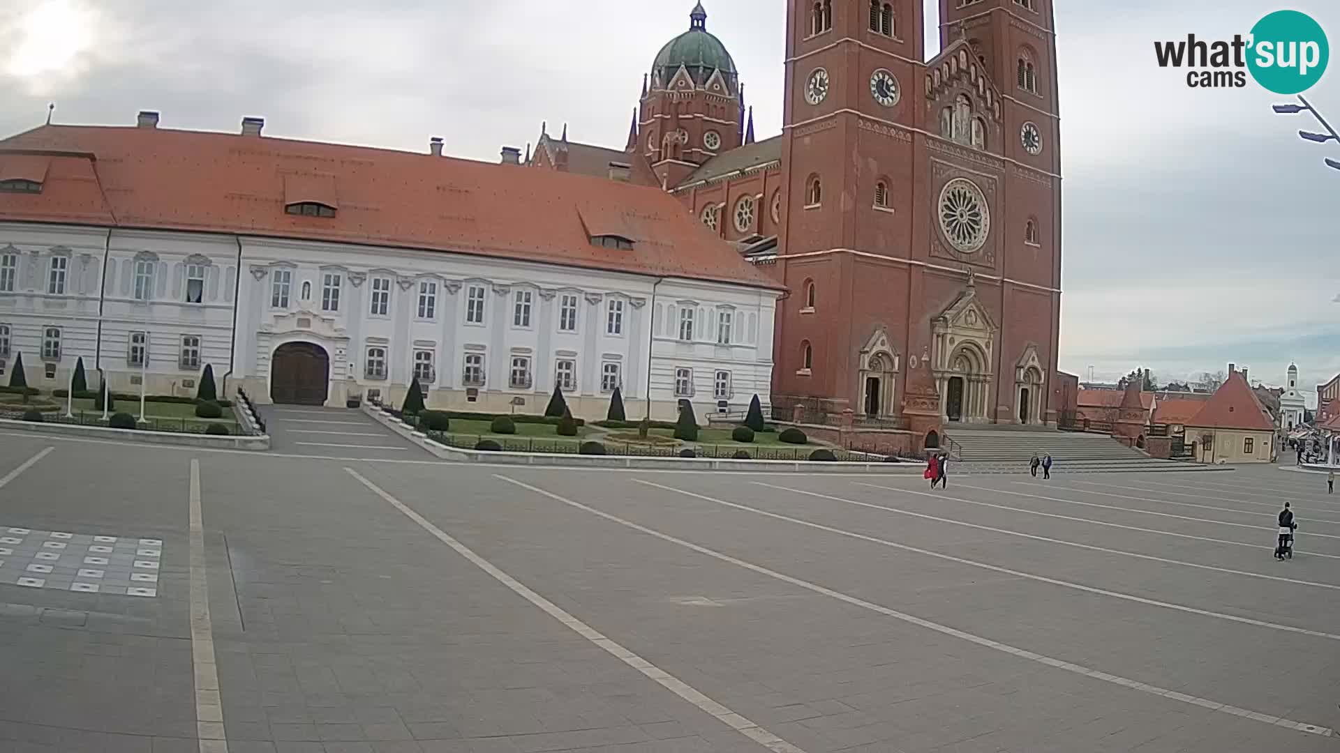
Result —
[[[0, 584], [158, 595], [162, 540], [0, 525]], [[137, 559], [143, 557], [143, 559]]]

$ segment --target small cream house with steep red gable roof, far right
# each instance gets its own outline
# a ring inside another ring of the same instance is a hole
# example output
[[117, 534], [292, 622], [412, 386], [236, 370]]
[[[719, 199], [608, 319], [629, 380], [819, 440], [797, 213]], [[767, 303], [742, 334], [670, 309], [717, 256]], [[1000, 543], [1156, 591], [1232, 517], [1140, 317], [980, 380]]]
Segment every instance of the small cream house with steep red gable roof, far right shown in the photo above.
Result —
[[1270, 462], [1274, 421], [1246, 376], [1230, 363], [1227, 379], [1186, 422], [1186, 441], [1198, 462]]

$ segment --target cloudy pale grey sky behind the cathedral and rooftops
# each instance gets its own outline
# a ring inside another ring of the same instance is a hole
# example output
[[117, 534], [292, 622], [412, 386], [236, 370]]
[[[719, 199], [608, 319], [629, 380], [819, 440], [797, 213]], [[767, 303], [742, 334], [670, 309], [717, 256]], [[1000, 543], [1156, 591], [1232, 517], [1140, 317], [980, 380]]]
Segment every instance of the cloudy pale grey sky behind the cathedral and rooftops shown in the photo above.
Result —
[[[1246, 33], [1260, 0], [1055, 0], [1064, 184], [1061, 368], [1162, 379], [1246, 364], [1304, 386], [1340, 371], [1340, 147], [1294, 134], [1248, 88], [1191, 90], [1152, 42]], [[760, 138], [781, 129], [784, 4], [706, 0]], [[642, 72], [690, 0], [9, 0], [0, 3], [0, 134], [66, 123], [236, 130], [496, 159], [565, 122], [622, 146]], [[927, 1], [927, 48], [938, 13]], [[1340, 4], [1290, 0], [1340, 44]], [[281, 9], [283, 8], [283, 9]], [[1308, 92], [1340, 127], [1340, 63]], [[1313, 393], [1315, 398], [1315, 393]]]

